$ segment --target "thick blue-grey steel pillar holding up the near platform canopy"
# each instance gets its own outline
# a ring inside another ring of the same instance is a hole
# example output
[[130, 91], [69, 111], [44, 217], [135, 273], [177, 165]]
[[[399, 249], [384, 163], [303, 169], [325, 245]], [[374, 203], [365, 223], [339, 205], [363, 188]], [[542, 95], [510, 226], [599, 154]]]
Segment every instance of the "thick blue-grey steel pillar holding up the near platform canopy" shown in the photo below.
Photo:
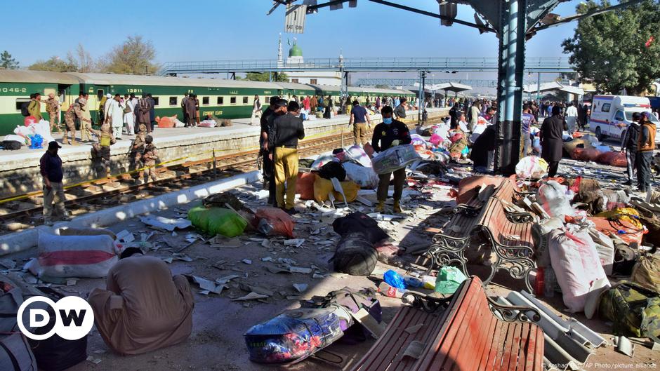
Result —
[[527, 0], [501, 1], [499, 9], [501, 20], [494, 170], [502, 175], [515, 173], [515, 165], [520, 160], [524, 41], [527, 29], [525, 9]]

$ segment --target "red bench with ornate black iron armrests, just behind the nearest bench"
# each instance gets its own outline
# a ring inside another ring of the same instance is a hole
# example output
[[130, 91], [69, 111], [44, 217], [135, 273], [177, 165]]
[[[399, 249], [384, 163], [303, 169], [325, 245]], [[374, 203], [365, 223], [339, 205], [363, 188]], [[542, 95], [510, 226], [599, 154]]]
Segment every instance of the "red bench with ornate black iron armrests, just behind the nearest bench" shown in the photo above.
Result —
[[488, 284], [499, 269], [506, 269], [513, 278], [524, 279], [527, 290], [533, 292], [529, 281], [529, 271], [536, 267], [533, 220], [527, 213], [508, 213], [501, 200], [493, 196], [477, 212], [458, 213], [442, 232], [433, 236], [426, 252], [431, 260], [428, 270], [456, 263], [468, 275], [465, 251], [470, 246], [470, 238], [482, 232], [496, 257], [484, 284]]

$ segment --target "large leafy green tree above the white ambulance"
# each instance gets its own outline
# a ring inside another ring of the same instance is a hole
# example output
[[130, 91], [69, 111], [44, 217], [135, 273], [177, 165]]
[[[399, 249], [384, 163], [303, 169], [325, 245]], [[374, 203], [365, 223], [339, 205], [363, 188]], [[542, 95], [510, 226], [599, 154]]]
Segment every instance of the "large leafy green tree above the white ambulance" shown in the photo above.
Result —
[[[623, 2], [624, 0], [622, 0]], [[588, 0], [578, 13], [610, 6]], [[564, 53], [583, 79], [595, 83], [601, 93], [639, 95], [660, 79], [660, 1], [647, 0], [578, 22], [575, 34], [562, 43]], [[645, 43], [654, 36], [649, 47]]]

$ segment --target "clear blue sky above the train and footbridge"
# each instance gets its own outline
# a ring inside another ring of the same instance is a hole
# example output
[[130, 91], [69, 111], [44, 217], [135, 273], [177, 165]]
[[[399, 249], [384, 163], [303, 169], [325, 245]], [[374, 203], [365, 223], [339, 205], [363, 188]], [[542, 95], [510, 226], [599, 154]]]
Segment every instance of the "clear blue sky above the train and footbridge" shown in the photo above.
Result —
[[[324, 0], [319, 0], [322, 2]], [[394, 0], [437, 12], [435, 0]], [[572, 15], [579, 1], [555, 9]], [[52, 1], [4, 0], [1, 50], [27, 67], [82, 43], [96, 58], [131, 34], [143, 35], [157, 50], [157, 62], [277, 58], [277, 36], [284, 29], [284, 7], [272, 15], [270, 0]], [[29, 14], [29, 19], [26, 15]], [[459, 6], [458, 18], [473, 21], [473, 11]], [[539, 32], [527, 43], [528, 57], [561, 57], [561, 42], [575, 24]], [[12, 35], [12, 36], [10, 36]], [[321, 9], [308, 15], [298, 37], [306, 58], [355, 57], [495, 57], [494, 34], [480, 35], [461, 25], [440, 27], [439, 20], [359, 0], [357, 8]]]

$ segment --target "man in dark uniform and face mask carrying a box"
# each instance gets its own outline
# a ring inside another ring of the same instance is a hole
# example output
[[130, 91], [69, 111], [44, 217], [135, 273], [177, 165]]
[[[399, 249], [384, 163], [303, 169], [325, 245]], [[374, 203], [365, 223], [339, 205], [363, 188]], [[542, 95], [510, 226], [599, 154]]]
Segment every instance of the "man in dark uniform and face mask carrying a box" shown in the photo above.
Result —
[[[383, 122], [376, 125], [374, 128], [374, 136], [371, 138], [371, 146], [374, 151], [385, 151], [390, 147], [410, 144], [410, 132], [406, 124], [401, 121], [392, 119], [392, 107], [386, 106], [381, 110], [383, 115]], [[388, 188], [390, 187], [390, 177], [392, 173], [378, 175], [380, 181], [378, 182], [378, 206], [376, 211], [381, 213], [385, 210], [385, 199], [388, 198]], [[406, 168], [400, 168], [394, 172], [394, 212], [401, 213], [401, 194], [403, 192], [403, 184], [406, 180]]]

